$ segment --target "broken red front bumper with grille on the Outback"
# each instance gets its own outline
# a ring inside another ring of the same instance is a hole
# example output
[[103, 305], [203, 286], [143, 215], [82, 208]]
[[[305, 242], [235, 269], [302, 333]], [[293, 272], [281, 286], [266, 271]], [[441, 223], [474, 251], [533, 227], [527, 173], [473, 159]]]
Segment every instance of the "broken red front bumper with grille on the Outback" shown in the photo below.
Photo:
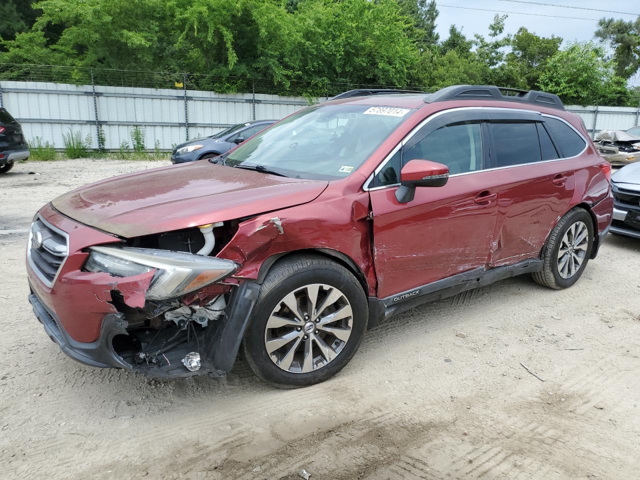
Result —
[[[227, 294], [223, 319], [201, 331], [204, 339], [198, 344], [199, 371], [186, 369], [182, 359], [189, 352], [179, 349], [166, 351], [163, 365], [136, 362], [122, 353], [118, 342], [134, 337], [127, 316], [145, 308], [152, 273], [119, 278], [83, 271], [88, 247], [120, 239], [70, 220], [51, 205], [44, 207], [37, 218], [42, 222], [41, 230], [31, 232], [27, 257], [29, 302], [47, 335], [68, 356], [93, 367], [123, 368], [159, 378], [205, 373], [221, 376], [230, 371], [259, 284], [245, 280], [233, 287]], [[36, 235], [38, 232], [41, 235]]]

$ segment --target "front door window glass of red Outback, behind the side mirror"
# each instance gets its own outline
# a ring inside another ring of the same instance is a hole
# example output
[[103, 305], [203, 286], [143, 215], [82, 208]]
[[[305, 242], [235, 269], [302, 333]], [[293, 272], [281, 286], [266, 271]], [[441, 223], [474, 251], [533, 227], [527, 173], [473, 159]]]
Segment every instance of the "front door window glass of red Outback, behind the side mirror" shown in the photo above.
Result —
[[445, 164], [449, 172], [474, 172], [483, 169], [483, 143], [479, 122], [458, 122], [429, 133], [403, 151], [402, 163], [412, 159]]

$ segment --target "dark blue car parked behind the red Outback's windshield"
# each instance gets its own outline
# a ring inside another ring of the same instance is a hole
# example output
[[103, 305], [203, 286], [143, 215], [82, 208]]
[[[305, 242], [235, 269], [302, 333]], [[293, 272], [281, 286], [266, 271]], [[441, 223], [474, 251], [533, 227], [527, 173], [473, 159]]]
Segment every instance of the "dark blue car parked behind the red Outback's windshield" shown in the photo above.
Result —
[[171, 152], [171, 163], [193, 162], [204, 158], [217, 157], [242, 143], [257, 132], [266, 129], [277, 120], [253, 120], [244, 124], [233, 125], [214, 135], [195, 138], [180, 143]]

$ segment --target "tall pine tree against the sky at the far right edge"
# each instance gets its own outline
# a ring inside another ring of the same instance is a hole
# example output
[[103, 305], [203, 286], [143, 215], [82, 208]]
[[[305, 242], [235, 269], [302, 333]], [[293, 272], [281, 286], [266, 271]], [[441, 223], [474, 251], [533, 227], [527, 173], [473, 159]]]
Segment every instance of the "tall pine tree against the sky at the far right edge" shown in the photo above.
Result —
[[600, 19], [596, 38], [614, 49], [616, 74], [630, 78], [640, 68], [640, 17], [636, 20]]

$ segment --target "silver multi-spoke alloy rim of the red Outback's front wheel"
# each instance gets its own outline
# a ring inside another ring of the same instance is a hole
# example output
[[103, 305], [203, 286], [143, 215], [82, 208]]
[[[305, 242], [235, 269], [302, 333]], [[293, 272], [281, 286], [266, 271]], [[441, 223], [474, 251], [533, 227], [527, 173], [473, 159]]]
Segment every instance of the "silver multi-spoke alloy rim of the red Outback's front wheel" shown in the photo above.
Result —
[[326, 284], [300, 287], [271, 312], [264, 346], [274, 364], [308, 373], [334, 360], [351, 335], [353, 310], [344, 293]]

